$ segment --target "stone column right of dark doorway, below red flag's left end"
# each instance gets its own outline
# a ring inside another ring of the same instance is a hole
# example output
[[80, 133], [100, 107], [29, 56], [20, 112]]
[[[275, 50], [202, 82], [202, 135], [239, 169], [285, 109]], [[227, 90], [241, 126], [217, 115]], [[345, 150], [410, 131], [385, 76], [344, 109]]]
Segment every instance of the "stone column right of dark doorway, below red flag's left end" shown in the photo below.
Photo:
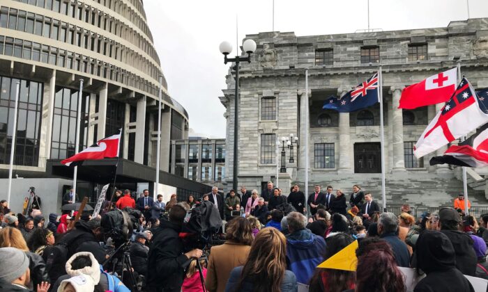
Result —
[[390, 87], [392, 94], [392, 129], [393, 129], [393, 172], [404, 172], [405, 170], [405, 156], [403, 145], [403, 112], [402, 108], [398, 108], [400, 104], [400, 97], [404, 86]]

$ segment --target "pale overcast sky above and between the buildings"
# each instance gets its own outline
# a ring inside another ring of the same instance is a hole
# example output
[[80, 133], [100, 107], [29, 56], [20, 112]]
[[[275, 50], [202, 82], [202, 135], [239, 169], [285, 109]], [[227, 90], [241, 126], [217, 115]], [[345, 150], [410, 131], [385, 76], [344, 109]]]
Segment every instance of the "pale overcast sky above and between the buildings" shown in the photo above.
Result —
[[[234, 46], [246, 34], [273, 31], [273, 0], [144, 0], [144, 10], [169, 95], [190, 115], [190, 128], [225, 138], [224, 106], [228, 65], [222, 40]], [[469, 0], [469, 17], [488, 17], [488, 0]], [[370, 0], [369, 27], [393, 31], [445, 27], [468, 18], [466, 0]], [[353, 33], [367, 29], [367, 0], [275, 0], [275, 31], [297, 36]]]

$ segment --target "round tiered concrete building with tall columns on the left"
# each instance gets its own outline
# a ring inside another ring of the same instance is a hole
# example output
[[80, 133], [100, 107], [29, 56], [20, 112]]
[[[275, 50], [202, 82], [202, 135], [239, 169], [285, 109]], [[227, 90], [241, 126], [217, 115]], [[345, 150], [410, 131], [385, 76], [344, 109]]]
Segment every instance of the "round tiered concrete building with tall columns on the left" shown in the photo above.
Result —
[[188, 114], [168, 95], [142, 0], [0, 0], [1, 177], [10, 163], [17, 80], [15, 173], [35, 177], [48, 159], [74, 154], [77, 106], [80, 149], [123, 129], [121, 157], [154, 166], [159, 76], [160, 161], [169, 171], [169, 141], [188, 136]]

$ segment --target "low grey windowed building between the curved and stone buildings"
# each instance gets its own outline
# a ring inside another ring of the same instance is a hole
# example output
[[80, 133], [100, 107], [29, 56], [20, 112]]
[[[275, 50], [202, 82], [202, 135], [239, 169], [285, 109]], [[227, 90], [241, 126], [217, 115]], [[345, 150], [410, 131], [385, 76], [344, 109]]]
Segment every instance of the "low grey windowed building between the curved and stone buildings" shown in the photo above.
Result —
[[223, 188], [225, 152], [225, 139], [171, 140], [171, 174]]

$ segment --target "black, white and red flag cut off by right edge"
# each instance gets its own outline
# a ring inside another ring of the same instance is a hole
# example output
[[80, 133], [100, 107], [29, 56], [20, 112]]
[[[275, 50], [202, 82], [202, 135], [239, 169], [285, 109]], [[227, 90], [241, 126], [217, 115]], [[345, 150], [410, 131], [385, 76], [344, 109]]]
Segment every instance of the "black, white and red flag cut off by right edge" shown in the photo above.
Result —
[[449, 147], [443, 156], [430, 159], [430, 165], [448, 163], [451, 165], [482, 168], [488, 166], [488, 124], [477, 133], [460, 143]]

